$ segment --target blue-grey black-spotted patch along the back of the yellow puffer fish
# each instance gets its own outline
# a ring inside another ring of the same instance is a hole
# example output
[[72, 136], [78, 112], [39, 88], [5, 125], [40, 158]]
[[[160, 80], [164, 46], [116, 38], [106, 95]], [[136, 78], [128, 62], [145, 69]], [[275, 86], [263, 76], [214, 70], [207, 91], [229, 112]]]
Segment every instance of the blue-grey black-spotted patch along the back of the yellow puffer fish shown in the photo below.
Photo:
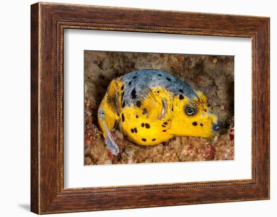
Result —
[[122, 76], [121, 81], [125, 83], [123, 100], [127, 106], [135, 104], [137, 100], [144, 100], [155, 87], [161, 87], [174, 95], [183, 95], [189, 99], [198, 98], [193, 88], [187, 83], [158, 69], [132, 71]]

